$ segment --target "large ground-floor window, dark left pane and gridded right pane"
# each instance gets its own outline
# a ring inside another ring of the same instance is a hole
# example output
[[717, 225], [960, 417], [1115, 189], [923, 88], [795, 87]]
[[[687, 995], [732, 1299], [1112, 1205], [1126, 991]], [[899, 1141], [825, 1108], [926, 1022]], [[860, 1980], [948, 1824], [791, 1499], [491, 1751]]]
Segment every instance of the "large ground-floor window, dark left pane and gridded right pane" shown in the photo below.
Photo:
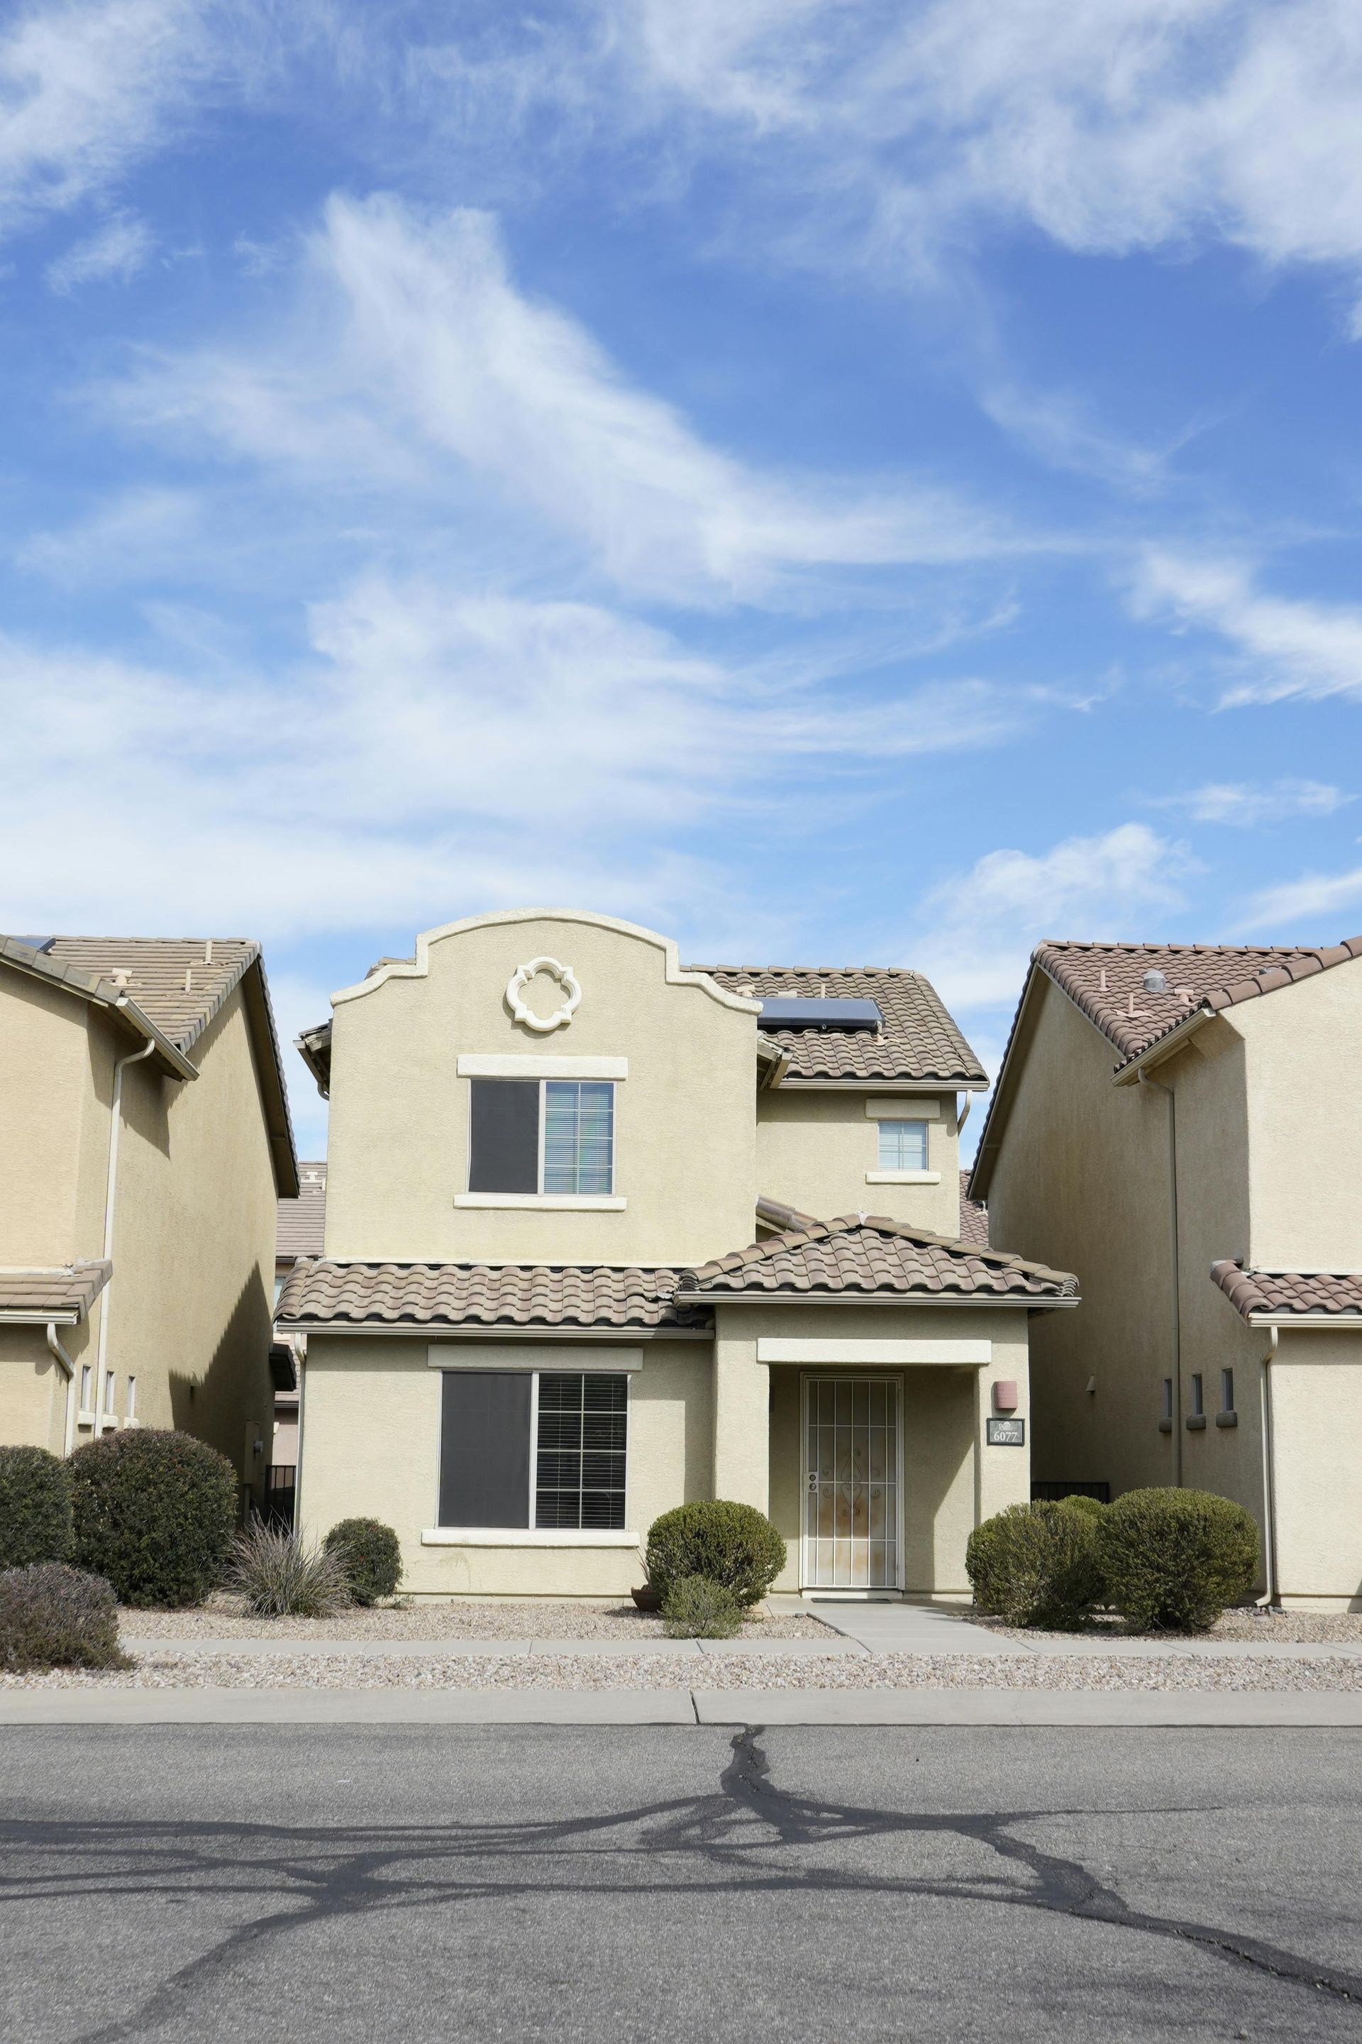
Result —
[[445, 1369], [439, 1523], [625, 1525], [629, 1378], [604, 1369]]

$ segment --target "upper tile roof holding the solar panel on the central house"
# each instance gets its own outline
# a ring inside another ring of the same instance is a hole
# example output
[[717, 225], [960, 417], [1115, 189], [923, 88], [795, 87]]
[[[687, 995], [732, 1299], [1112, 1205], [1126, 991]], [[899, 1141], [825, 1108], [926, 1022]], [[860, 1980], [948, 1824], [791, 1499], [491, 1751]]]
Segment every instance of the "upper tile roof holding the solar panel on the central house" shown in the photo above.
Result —
[[690, 965], [729, 993], [756, 1000], [792, 993], [800, 1000], [878, 1002], [882, 1030], [770, 1030], [790, 1059], [790, 1079], [919, 1079], [941, 1085], [986, 1085], [988, 1075], [964, 1040], [929, 979], [898, 967], [835, 965]]

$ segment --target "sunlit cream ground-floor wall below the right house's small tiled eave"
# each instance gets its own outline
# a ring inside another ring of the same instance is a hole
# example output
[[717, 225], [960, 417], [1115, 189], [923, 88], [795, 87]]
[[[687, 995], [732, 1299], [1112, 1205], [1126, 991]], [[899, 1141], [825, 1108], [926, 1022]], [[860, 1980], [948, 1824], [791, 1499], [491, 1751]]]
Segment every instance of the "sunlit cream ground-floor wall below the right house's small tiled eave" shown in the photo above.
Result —
[[1282, 1333], [1272, 1376], [1284, 1605], [1362, 1611], [1362, 1333]]

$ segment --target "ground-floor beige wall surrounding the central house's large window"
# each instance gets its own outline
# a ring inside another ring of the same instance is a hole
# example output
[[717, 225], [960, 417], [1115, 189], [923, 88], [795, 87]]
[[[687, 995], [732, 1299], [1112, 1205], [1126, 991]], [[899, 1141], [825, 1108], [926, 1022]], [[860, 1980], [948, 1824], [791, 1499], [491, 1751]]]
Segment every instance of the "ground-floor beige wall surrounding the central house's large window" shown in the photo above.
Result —
[[[572, 1343], [545, 1345], [572, 1367]], [[645, 1341], [629, 1376], [629, 1531], [711, 1494], [713, 1349]], [[321, 1539], [372, 1515], [402, 1543], [410, 1596], [627, 1596], [643, 1580], [633, 1547], [423, 1547], [439, 1523], [441, 1372], [417, 1339], [312, 1335], [302, 1404], [300, 1525]]]

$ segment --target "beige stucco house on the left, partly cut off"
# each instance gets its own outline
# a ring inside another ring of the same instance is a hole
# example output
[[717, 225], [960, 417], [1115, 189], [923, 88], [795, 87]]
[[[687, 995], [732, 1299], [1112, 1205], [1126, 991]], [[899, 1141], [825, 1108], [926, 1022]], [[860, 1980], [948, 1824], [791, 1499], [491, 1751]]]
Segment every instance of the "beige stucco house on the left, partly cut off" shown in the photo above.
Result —
[[259, 944], [0, 938], [0, 1441], [182, 1427], [261, 1494], [294, 1145]]

